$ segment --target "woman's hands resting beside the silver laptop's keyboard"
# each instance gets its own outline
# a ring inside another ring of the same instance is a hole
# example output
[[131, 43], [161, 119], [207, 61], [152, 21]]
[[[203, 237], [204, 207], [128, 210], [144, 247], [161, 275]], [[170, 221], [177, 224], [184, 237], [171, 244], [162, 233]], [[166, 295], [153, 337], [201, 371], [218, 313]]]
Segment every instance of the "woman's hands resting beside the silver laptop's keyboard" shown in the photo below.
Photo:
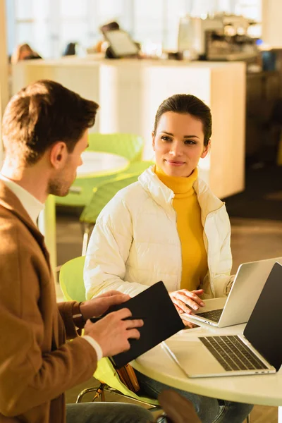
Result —
[[198, 295], [202, 295], [203, 293], [203, 289], [196, 289], [192, 291], [180, 289], [169, 293], [169, 295], [179, 314], [192, 314], [193, 310], [197, 311], [200, 307], [204, 307], [203, 300], [198, 297]]

